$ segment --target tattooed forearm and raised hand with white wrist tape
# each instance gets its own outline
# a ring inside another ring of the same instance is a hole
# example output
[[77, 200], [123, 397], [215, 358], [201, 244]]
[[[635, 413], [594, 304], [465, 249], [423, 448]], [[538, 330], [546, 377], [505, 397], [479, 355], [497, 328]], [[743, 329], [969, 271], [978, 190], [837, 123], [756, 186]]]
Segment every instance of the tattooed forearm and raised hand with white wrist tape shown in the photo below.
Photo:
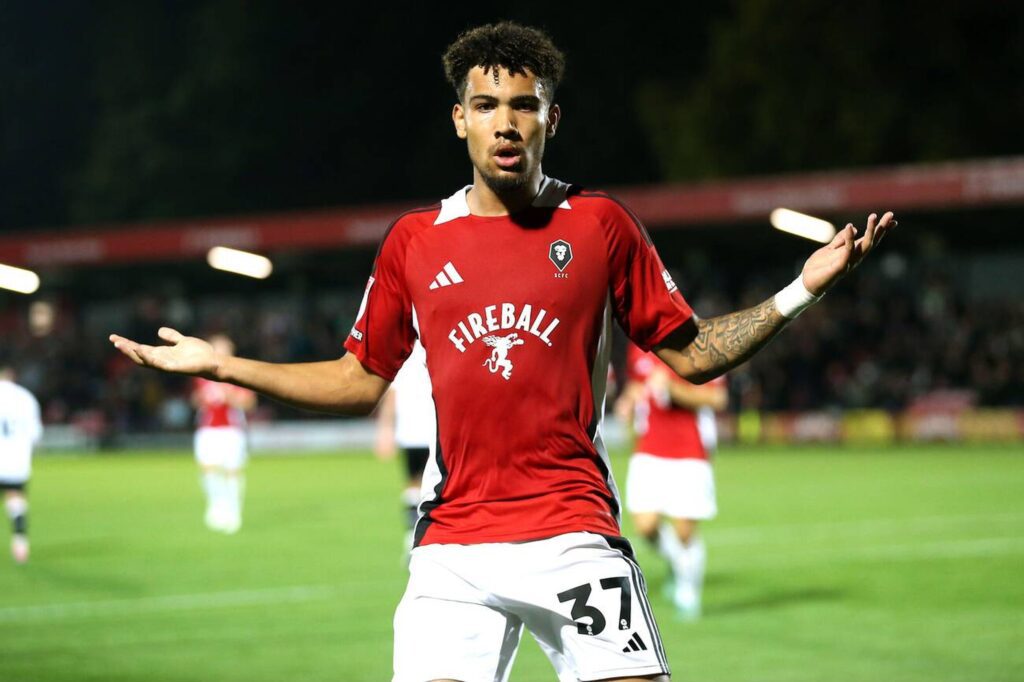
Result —
[[[670, 334], [654, 352], [679, 376], [703, 383], [742, 365], [764, 348], [804, 307], [824, 295], [856, 267], [896, 226], [893, 214], [867, 217], [863, 237], [847, 224], [833, 241], [811, 254], [797, 282], [754, 307], [709, 319], [690, 319]], [[799, 286], [798, 286], [799, 285]]]

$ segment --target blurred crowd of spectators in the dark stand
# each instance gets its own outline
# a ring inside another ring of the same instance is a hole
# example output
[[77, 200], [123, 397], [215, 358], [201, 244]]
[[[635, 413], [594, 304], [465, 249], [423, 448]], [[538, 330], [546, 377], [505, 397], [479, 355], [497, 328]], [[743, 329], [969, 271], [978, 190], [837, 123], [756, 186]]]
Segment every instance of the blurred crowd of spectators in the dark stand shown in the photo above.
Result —
[[[754, 272], [737, 283], [728, 279], [736, 269], [688, 264], [677, 282], [694, 309], [711, 316], [755, 304], [786, 281], [784, 272]], [[898, 411], [952, 389], [966, 390], [978, 406], [1024, 406], [1024, 301], [1008, 295], [969, 302], [933, 260], [883, 261], [847, 284], [732, 373], [734, 409]], [[18, 301], [0, 309], [0, 338], [23, 383], [38, 395], [47, 423], [106, 433], [186, 431], [193, 421], [188, 382], [132, 371], [110, 349], [110, 331], [156, 339], [158, 326], [173, 318], [193, 335], [230, 335], [244, 356], [324, 359], [341, 354], [361, 294], [353, 288], [316, 300], [282, 292], [196, 300], [146, 295], [134, 301], [46, 301], [51, 307], [43, 311], [38, 300]], [[264, 402], [252, 418], [316, 415]]]

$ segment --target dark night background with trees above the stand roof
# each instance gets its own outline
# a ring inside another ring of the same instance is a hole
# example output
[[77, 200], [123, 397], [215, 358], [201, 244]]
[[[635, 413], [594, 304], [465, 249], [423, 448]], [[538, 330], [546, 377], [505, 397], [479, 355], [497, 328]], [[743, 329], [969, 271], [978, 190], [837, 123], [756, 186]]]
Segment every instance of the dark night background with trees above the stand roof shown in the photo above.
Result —
[[1019, 3], [428, 4], [0, 2], [0, 228], [445, 196], [470, 176], [440, 53], [505, 17], [568, 54], [546, 162], [566, 179], [1024, 147]]

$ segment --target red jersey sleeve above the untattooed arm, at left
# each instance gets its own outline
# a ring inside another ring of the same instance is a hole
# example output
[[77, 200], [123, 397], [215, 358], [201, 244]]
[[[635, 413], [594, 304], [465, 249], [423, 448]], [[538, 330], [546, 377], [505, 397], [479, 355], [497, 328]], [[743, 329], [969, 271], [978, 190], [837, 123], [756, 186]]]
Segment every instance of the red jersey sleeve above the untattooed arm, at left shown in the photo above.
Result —
[[384, 238], [355, 324], [345, 340], [345, 348], [362, 367], [388, 381], [394, 381], [417, 338], [403, 275], [404, 245], [397, 231], [392, 227]]

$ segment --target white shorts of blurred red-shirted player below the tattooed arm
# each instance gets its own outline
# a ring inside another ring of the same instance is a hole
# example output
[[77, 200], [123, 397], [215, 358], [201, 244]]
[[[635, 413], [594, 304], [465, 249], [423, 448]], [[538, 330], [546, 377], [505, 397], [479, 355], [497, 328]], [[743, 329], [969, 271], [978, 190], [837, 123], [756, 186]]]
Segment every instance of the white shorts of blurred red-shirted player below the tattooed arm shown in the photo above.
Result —
[[626, 508], [634, 514], [715, 518], [715, 476], [707, 460], [678, 460], [637, 453], [630, 458]]

